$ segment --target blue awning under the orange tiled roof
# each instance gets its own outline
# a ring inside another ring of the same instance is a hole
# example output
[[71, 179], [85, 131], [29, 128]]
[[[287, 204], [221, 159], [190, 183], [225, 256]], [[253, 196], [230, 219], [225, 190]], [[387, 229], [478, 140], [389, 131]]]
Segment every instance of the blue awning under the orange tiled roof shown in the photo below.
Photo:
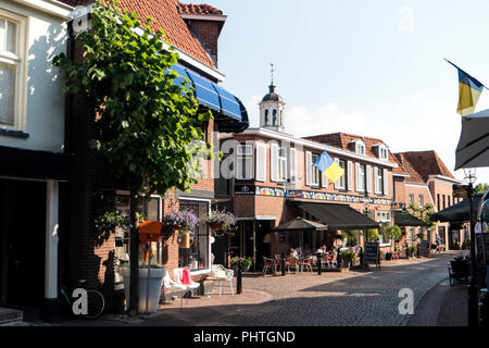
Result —
[[173, 70], [178, 74], [178, 77], [174, 79], [175, 84], [181, 86], [184, 77], [188, 78], [196, 89], [195, 97], [200, 104], [229, 116], [234, 121], [249, 123], [247, 109], [236, 96], [179, 64], [175, 64]]

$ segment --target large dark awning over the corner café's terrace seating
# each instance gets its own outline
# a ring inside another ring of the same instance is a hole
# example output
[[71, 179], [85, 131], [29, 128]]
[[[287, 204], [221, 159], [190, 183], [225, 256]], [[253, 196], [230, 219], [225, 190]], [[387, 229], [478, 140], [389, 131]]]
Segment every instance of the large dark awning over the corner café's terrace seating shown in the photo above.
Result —
[[304, 202], [299, 200], [294, 200], [292, 203], [319, 220], [330, 231], [379, 227], [378, 222], [346, 204]]

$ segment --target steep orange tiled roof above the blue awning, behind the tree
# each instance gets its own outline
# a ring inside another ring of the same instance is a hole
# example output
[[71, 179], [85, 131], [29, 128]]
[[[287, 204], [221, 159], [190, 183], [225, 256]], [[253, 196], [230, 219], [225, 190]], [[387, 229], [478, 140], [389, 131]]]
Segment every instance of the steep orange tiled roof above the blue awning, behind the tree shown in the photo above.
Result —
[[[59, 0], [72, 7], [92, 3], [93, 0]], [[108, 0], [103, 0], [108, 2]], [[199, 40], [192, 35], [187, 24], [180, 17], [177, 0], [121, 0], [120, 5], [130, 12], [138, 14], [139, 21], [143, 22], [148, 16], [153, 18], [151, 27], [154, 32], [163, 28], [166, 39], [185, 53], [197, 59], [201, 63], [215, 69], [215, 64], [205, 52]], [[211, 7], [212, 8], [212, 7]]]

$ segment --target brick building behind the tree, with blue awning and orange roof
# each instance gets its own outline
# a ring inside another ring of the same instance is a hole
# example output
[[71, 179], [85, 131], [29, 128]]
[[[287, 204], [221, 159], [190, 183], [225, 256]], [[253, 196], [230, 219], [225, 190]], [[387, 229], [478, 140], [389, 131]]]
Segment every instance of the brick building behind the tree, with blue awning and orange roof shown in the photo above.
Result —
[[[71, 59], [80, 59], [83, 51], [75, 46], [73, 22], [68, 21], [66, 25], [65, 21], [77, 5], [86, 5], [85, 10], [89, 11], [92, 1], [61, 2], [66, 4], [62, 8], [67, 13], [57, 24], [67, 27], [61, 51], [66, 51]], [[241, 101], [218, 85], [224, 80], [224, 75], [217, 70], [216, 51], [218, 33], [226, 18], [222, 12], [211, 14], [204, 11], [210, 9], [208, 5], [185, 5], [175, 0], [155, 0], [151, 4], [146, 1], [122, 0], [120, 4], [136, 12], [141, 21], [151, 16], [154, 20], [153, 29], [165, 30], [166, 39], [179, 54], [179, 61], [173, 69], [179, 76], [187, 77], [195, 87], [199, 112], [213, 112], [214, 120], [205, 126], [208, 141], [213, 142], [216, 133], [241, 132], [248, 127], [248, 115]], [[192, 21], [188, 16], [192, 16]], [[192, 27], [197, 17], [205, 23], [202, 32], [201, 27]], [[205, 35], [211, 29], [214, 34]], [[57, 239], [57, 245], [51, 246], [55, 249], [55, 256], [59, 256], [59, 260], [52, 261], [53, 269], [58, 271], [52, 277], [68, 285], [86, 279], [86, 287], [103, 291], [108, 309], [120, 310], [118, 295], [114, 296], [120, 294], [116, 290], [122, 286], [117, 264], [118, 261], [128, 259], [128, 235], [120, 229], [101, 234], [96, 229], [95, 220], [103, 210], [116, 208], [127, 211], [128, 191], [111, 177], [105, 160], [88, 146], [90, 139], [97, 138], [101, 127], [95, 121], [89, 101], [71, 96], [64, 99], [59, 90], [57, 88], [55, 94], [62, 103], [61, 120], [65, 121], [65, 124], [59, 125], [64, 135], [63, 146], [60, 145], [60, 148], [70, 154], [71, 163], [64, 166], [66, 177], [61, 196], [63, 201], [60, 204], [62, 224], [59, 243]], [[206, 164], [205, 175], [192, 186], [190, 192], [171, 191], [165, 197], [154, 196], [151, 201], [143, 203], [141, 208], [148, 213], [149, 220], [162, 220], [166, 212], [177, 209], [193, 210], [200, 219], [204, 219], [214, 200], [213, 166], [206, 162], [201, 161]], [[209, 231], [203, 223], [196, 231], [190, 249], [179, 249], [177, 235], [166, 236], [164, 243], [158, 246], [158, 260], [167, 265], [171, 274], [174, 268], [181, 265], [189, 265], [193, 274], [202, 274], [210, 272], [210, 250]], [[59, 301], [59, 283], [53, 283], [52, 293], [51, 299]]]

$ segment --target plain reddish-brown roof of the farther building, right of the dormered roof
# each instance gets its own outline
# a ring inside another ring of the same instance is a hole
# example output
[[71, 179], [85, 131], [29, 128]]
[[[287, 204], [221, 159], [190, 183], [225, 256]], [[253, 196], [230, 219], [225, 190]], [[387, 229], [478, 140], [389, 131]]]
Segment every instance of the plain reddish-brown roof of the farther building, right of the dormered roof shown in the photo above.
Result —
[[425, 183], [428, 181], [429, 175], [443, 175], [455, 178], [434, 150], [400, 152], [396, 156], [400, 156], [408, 161]]

